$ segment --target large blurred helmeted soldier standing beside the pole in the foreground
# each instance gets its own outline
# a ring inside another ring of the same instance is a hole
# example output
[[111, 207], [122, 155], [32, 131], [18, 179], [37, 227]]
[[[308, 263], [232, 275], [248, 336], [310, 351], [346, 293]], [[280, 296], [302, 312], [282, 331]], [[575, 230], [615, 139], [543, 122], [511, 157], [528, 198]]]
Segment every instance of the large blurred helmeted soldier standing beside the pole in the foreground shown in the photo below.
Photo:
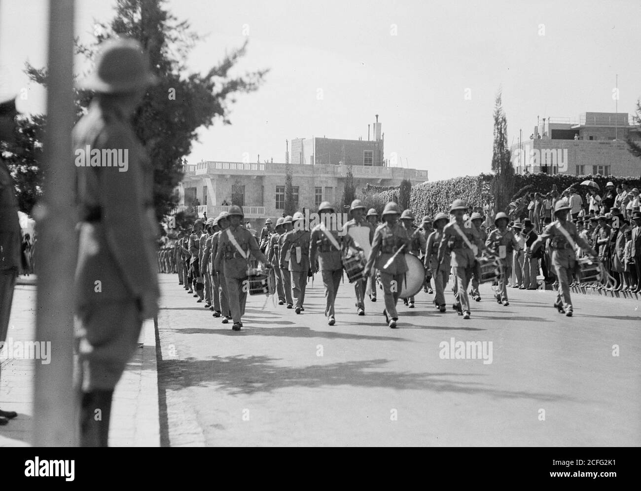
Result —
[[[158, 312], [154, 168], [129, 123], [147, 87], [156, 82], [148, 67], [137, 41], [104, 41], [96, 69], [82, 87], [93, 90], [94, 98], [73, 133], [73, 148], [124, 148], [129, 161], [126, 172], [100, 166], [78, 167], [76, 173], [83, 447], [107, 445], [113, 390], [138, 347], [143, 320]], [[137, 237], [135, 246], [132, 237]], [[102, 282], [100, 292], [94, 290], [96, 279]]]

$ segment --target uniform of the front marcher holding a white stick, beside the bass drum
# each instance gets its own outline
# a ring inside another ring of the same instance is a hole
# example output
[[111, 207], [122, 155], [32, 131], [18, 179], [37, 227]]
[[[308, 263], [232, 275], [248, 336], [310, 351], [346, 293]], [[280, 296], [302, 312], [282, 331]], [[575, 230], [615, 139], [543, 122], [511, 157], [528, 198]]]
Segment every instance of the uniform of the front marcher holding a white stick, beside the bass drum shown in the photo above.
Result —
[[[383, 268], [385, 263], [402, 246], [405, 246], [405, 249], [399, 252], [392, 264]], [[396, 302], [401, 294], [404, 273], [407, 271], [404, 252], [408, 252], [409, 246], [410, 236], [403, 225], [395, 223], [390, 227], [387, 223], [383, 223], [374, 232], [372, 250], [365, 266], [365, 271], [372, 271], [372, 266], [374, 266], [381, 272], [381, 284], [383, 284], [383, 293], [385, 293], [385, 310], [387, 315], [394, 320], [398, 318]]]

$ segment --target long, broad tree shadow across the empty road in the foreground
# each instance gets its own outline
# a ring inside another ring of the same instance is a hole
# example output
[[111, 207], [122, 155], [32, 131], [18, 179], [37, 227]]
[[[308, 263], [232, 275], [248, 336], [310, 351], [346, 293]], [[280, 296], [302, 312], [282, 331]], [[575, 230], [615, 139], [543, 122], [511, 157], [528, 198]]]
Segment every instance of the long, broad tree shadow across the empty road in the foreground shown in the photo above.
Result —
[[281, 388], [353, 386], [425, 390], [483, 395], [499, 399], [572, 401], [563, 394], [501, 390], [492, 384], [472, 381], [481, 374], [450, 372], [397, 372], [385, 370], [388, 359], [346, 361], [328, 365], [279, 366], [279, 359], [268, 356], [228, 356], [211, 359], [167, 359], [159, 364], [163, 390], [213, 384], [229, 395], [271, 393]]

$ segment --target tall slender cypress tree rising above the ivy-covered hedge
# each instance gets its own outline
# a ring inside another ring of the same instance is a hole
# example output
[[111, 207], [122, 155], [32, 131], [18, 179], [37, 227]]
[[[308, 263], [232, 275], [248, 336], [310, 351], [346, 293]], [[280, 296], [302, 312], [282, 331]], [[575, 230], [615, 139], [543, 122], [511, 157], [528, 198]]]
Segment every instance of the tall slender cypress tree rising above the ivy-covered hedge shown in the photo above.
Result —
[[514, 168], [512, 167], [510, 148], [508, 147], [508, 122], [501, 104], [499, 90], [494, 106], [494, 149], [492, 151], [492, 194], [494, 210], [508, 210], [510, 196], [514, 187]]

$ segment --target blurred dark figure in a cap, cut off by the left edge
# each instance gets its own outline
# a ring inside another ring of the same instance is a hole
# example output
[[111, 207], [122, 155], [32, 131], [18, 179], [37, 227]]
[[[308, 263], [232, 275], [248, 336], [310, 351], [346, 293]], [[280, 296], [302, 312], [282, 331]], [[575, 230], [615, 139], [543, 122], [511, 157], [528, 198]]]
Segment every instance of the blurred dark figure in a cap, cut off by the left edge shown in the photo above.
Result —
[[[15, 142], [15, 100], [0, 101], [0, 143]], [[0, 146], [0, 346], [4, 345], [9, 329], [13, 302], [13, 287], [21, 265], [21, 232], [18, 206], [13, 191], [13, 179], [2, 158]], [[15, 411], [0, 409], [0, 425], [17, 417]]]

